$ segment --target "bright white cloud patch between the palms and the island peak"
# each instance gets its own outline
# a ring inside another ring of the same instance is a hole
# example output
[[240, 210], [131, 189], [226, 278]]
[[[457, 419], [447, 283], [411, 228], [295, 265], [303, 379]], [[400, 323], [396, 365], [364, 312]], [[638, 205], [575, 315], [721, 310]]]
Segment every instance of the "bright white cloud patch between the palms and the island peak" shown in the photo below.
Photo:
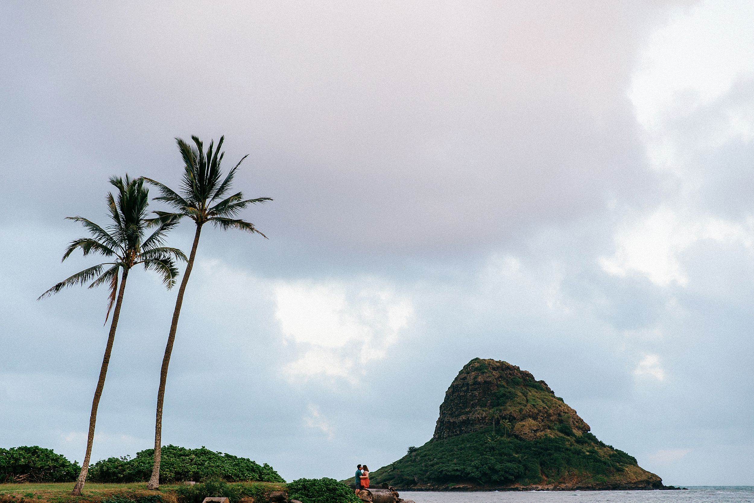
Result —
[[371, 360], [408, 327], [412, 302], [389, 288], [328, 282], [280, 283], [275, 317], [287, 342], [301, 351], [292, 376], [338, 376], [357, 382]]

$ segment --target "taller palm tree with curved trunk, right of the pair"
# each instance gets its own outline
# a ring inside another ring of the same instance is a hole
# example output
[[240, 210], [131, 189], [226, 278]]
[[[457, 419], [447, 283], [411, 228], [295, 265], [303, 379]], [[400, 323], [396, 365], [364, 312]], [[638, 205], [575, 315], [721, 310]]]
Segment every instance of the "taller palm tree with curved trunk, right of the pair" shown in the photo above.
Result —
[[220, 137], [220, 141], [214, 149], [214, 141], [210, 142], [206, 154], [204, 153], [204, 145], [201, 143], [201, 140], [197, 136], [192, 136], [192, 140], [195, 147], [190, 146], [189, 143], [180, 138], [176, 138], [176, 143], [178, 143], [178, 149], [181, 152], [184, 163], [181, 187], [178, 192], [173, 191], [173, 189], [156, 180], [144, 178], [160, 191], [160, 197], [155, 199], [164, 201], [175, 210], [174, 213], [155, 211], [157, 217], [153, 219], [153, 222], [172, 221], [173, 219], [181, 219], [184, 216], [188, 216], [194, 220], [196, 225], [194, 244], [192, 244], [191, 253], [189, 253], [189, 262], [186, 265], [181, 286], [178, 289], [176, 308], [173, 310], [173, 321], [170, 323], [170, 333], [167, 336], [167, 345], [165, 346], [165, 354], [162, 359], [160, 387], [157, 392], [157, 417], [155, 419], [155, 459], [152, 466], [152, 477], [150, 477], [149, 483], [147, 483], [149, 489], [157, 489], [160, 486], [162, 406], [165, 397], [165, 383], [167, 382], [167, 367], [170, 365], [170, 354], [173, 352], [173, 342], [176, 340], [176, 330], [178, 329], [178, 318], [181, 314], [181, 306], [183, 304], [183, 294], [185, 293], [186, 284], [189, 283], [189, 276], [194, 267], [201, 228], [204, 224], [212, 222], [215, 227], [219, 227], [222, 230], [234, 228], [256, 233], [266, 238], [262, 232], [256, 230], [253, 223], [235, 219], [234, 216], [237, 216], [238, 213], [241, 213], [241, 210], [244, 210], [250, 204], [272, 201], [271, 198], [244, 199], [244, 195], [241, 192], [228, 195], [236, 170], [244, 162], [244, 159], [247, 158], [247, 155], [244, 155], [241, 161], [238, 161], [238, 164], [228, 172], [228, 176], [225, 176], [225, 179], [223, 179], [220, 163], [225, 152], [220, 152], [220, 149], [225, 136]]

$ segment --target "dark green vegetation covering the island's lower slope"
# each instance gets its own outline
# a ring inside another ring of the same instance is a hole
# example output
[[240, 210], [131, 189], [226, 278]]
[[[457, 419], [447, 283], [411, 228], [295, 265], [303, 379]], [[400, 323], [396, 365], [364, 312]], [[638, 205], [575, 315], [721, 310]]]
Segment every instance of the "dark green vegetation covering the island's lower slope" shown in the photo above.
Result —
[[590, 433], [520, 440], [492, 434], [492, 428], [488, 428], [431, 440], [375, 471], [372, 480], [396, 487], [415, 483], [504, 486], [540, 483], [544, 478], [553, 482], [577, 473], [591, 474], [596, 481], [605, 482], [627, 465], [636, 465], [636, 459], [605, 446]]

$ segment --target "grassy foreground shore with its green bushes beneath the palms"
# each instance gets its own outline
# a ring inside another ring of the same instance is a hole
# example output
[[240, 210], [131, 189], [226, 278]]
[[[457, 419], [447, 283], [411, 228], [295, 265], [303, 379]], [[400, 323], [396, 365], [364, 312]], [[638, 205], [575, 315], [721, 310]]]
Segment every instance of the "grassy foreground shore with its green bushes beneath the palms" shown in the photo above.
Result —
[[[0, 449], [0, 503], [362, 503], [352, 489], [334, 479], [286, 483], [266, 463], [201, 449], [162, 448], [161, 486], [147, 489], [152, 449], [135, 457], [103, 459], [90, 465], [81, 496], [71, 494], [81, 467], [52, 449], [23, 446]], [[400, 498], [397, 500], [400, 503]], [[392, 502], [391, 502], [392, 503]]]

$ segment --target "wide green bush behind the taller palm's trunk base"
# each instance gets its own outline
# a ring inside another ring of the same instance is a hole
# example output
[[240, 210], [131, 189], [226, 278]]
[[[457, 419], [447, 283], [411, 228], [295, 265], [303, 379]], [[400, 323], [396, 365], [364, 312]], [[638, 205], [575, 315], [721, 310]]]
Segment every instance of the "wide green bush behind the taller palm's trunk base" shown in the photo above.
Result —
[[[141, 482], [152, 475], [154, 451], [146, 449], [136, 453], [135, 458], [108, 458], [92, 465], [89, 478], [95, 482]], [[266, 463], [259, 465], [247, 458], [214, 452], [210, 449], [186, 449], [185, 447], [164, 446], [160, 465], [160, 480], [165, 483], [208, 479], [221, 479], [229, 482], [259, 480], [281, 482], [283, 477]]]

